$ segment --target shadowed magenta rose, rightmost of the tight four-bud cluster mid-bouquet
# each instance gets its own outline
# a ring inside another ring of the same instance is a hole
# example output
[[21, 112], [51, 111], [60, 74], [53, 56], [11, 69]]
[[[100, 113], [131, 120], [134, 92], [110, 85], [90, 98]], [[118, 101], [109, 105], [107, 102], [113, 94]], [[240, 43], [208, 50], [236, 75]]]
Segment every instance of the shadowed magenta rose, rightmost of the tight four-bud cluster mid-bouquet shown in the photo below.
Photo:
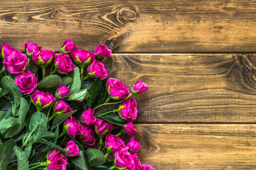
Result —
[[99, 137], [104, 137], [114, 128], [112, 123], [108, 123], [102, 119], [96, 119], [95, 121], [95, 132]]

